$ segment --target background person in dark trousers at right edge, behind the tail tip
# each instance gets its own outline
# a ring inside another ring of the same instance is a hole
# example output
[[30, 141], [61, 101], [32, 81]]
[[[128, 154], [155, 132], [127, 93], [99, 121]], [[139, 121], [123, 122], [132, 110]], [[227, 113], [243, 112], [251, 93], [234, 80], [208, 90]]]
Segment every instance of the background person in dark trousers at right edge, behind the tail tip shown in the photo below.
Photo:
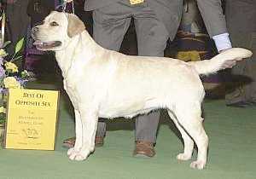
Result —
[[227, 90], [225, 101], [230, 107], [256, 104], [256, 1], [226, 0], [225, 15], [230, 39], [235, 47], [253, 51], [247, 61], [231, 69], [231, 82], [236, 89]]

